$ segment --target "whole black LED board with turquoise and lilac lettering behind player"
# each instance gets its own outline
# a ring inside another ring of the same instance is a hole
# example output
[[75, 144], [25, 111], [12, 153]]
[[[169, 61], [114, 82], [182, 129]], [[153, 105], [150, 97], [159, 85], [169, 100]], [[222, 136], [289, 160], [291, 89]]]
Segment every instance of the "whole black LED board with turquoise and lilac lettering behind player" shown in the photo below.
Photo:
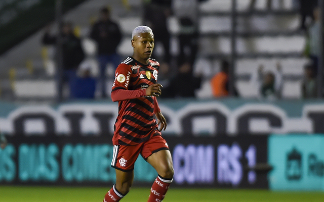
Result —
[[[267, 162], [265, 135], [165, 138], [173, 156], [173, 186], [268, 187], [266, 173], [254, 169]], [[109, 136], [29, 136], [8, 141], [0, 149], [0, 184], [111, 186], [115, 182]], [[151, 185], [156, 176], [153, 167], [138, 157], [134, 184]]]

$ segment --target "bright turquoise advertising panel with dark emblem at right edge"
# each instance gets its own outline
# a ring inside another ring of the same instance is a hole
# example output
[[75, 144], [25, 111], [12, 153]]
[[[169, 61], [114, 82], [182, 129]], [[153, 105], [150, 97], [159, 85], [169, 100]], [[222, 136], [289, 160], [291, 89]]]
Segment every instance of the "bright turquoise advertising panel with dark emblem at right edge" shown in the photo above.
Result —
[[324, 190], [324, 136], [272, 135], [268, 160], [274, 190]]

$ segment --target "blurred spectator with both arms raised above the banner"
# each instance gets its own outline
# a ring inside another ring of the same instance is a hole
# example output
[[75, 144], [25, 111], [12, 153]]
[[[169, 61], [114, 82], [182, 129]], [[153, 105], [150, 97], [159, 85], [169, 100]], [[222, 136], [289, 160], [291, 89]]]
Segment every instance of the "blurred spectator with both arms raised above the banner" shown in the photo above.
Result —
[[282, 73], [280, 63], [276, 64], [274, 72], [263, 72], [263, 65], [259, 65], [258, 71], [252, 75], [252, 85], [256, 85], [258, 97], [275, 100], [281, 97]]

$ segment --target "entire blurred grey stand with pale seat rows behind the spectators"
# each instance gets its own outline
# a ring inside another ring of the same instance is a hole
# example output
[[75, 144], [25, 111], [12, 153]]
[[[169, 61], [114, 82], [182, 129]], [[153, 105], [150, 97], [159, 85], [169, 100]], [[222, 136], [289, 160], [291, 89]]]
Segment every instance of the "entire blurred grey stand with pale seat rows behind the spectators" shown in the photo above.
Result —
[[[142, 23], [141, 1], [109, 1], [112, 18], [119, 22], [124, 38], [119, 45], [121, 56], [132, 53], [129, 48], [131, 31]], [[305, 46], [304, 33], [298, 31], [300, 16], [294, 7], [294, 0], [285, 1], [284, 8], [277, 8], [273, 1], [272, 9], [266, 10], [265, 1], [257, 1], [254, 12], [249, 11], [248, 0], [237, 0], [237, 38], [238, 60], [235, 67], [235, 86], [241, 97], [255, 98], [257, 89], [251, 84], [251, 74], [259, 64], [265, 70], [273, 70], [280, 62], [283, 73], [282, 98], [300, 98], [300, 83]], [[107, 1], [91, 0], [74, 8], [64, 16], [64, 20], [75, 25], [75, 32], [82, 38], [86, 63], [93, 66], [93, 74], [98, 74], [95, 60], [96, 44], [88, 37], [91, 23], [98, 16]], [[221, 58], [230, 56], [231, 1], [208, 0], [198, 8], [199, 52], [194, 73], [203, 74], [203, 84], [196, 92], [199, 98], [211, 98], [210, 78], [219, 71]], [[55, 27], [55, 24], [53, 25]], [[179, 20], [169, 18], [172, 33], [171, 53], [177, 54], [177, 32]], [[11, 100], [53, 100], [55, 90], [54, 48], [43, 47], [41, 37], [44, 30], [24, 40], [7, 53], [0, 56], [1, 98]], [[155, 51], [159, 48], [156, 47]], [[18, 57], [19, 56], [19, 57]], [[113, 74], [108, 68], [107, 74]], [[10, 75], [10, 76], [9, 76]], [[29, 87], [28, 87], [29, 86]], [[38, 91], [32, 90], [39, 89]]]

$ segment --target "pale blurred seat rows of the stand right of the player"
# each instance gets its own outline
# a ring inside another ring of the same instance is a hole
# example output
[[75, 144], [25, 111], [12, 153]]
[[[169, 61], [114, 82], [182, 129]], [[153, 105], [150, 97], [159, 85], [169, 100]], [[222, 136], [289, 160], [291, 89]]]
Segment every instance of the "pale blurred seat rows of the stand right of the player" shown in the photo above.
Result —
[[[238, 60], [234, 75], [235, 86], [242, 97], [257, 96], [256, 87], [250, 82], [251, 74], [259, 64], [266, 71], [274, 70], [281, 63], [283, 73], [282, 98], [300, 98], [300, 83], [303, 66], [305, 36], [298, 31], [300, 16], [293, 1], [285, 1], [284, 8], [277, 8], [273, 1], [271, 10], [266, 10], [265, 1], [257, 1], [255, 11], [249, 11], [250, 1], [237, 1]], [[219, 59], [230, 54], [231, 1], [207, 1], [199, 7], [200, 48], [196, 72], [213, 75], [219, 71]], [[209, 71], [206, 71], [206, 66]], [[215, 68], [216, 67], [216, 68]], [[205, 79], [200, 97], [211, 97], [209, 79]]]

